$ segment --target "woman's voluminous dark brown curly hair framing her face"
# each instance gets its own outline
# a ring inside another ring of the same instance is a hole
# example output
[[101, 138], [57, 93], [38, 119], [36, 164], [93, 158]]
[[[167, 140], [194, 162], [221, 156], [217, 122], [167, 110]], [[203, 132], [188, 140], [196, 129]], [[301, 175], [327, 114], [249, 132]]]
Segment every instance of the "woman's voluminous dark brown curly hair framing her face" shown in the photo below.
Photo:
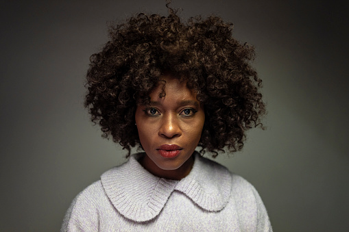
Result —
[[224, 148], [241, 150], [245, 131], [261, 125], [265, 114], [261, 79], [250, 65], [254, 47], [232, 38], [232, 23], [219, 16], [183, 23], [177, 10], [167, 8], [168, 16], [141, 13], [110, 26], [110, 40], [91, 55], [86, 75], [91, 120], [130, 155], [132, 147], [141, 148], [136, 106], [149, 103], [160, 77], [170, 72], [185, 78], [204, 104], [200, 152], [215, 157]]

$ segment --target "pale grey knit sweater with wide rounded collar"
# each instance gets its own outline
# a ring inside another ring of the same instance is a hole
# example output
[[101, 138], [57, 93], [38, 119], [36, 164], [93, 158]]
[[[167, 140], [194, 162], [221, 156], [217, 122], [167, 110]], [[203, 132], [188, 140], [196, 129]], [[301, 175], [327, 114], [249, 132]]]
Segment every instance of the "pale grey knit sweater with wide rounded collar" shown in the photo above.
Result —
[[254, 187], [201, 157], [180, 181], [149, 173], [144, 153], [101, 175], [80, 192], [61, 231], [272, 231]]

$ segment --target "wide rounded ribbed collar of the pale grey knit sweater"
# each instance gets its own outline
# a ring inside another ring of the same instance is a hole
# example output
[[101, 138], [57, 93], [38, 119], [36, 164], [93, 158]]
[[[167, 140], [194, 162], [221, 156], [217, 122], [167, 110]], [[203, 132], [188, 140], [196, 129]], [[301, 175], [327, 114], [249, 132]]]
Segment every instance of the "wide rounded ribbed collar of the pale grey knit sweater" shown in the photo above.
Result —
[[220, 211], [230, 197], [232, 177], [228, 169], [201, 157], [188, 176], [180, 181], [152, 175], [137, 161], [145, 153], [131, 155], [128, 162], [101, 175], [101, 183], [120, 214], [136, 222], [152, 220], [163, 209], [173, 191], [180, 191], [206, 211]]

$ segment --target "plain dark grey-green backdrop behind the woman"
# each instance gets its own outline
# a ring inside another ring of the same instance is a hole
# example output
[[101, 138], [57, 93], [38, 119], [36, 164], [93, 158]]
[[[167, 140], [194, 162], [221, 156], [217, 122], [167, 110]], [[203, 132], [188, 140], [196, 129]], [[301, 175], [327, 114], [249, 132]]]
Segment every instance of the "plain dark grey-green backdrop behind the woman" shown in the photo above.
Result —
[[[255, 185], [274, 231], [349, 230], [348, 1], [184, 1], [254, 44], [269, 114], [219, 162]], [[121, 164], [82, 106], [107, 21], [165, 1], [1, 1], [0, 231], [58, 231], [73, 197]]]

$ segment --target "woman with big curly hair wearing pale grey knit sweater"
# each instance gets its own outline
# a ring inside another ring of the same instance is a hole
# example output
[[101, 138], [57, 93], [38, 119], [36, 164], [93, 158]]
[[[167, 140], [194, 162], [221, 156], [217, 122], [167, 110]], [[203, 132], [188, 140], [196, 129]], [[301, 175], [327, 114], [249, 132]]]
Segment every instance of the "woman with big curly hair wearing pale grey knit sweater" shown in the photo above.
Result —
[[110, 28], [85, 106], [130, 159], [78, 194], [62, 231], [272, 231], [253, 186], [200, 155], [241, 150], [265, 113], [254, 49], [231, 31], [171, 8]]

